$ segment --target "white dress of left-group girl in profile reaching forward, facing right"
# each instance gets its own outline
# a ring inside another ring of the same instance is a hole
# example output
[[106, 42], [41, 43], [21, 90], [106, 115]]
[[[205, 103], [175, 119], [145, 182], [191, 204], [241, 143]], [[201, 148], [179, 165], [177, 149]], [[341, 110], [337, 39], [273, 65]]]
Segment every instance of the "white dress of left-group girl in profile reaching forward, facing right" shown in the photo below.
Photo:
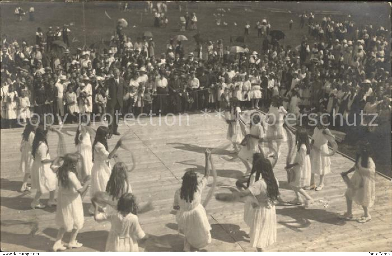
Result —
[[112, 173], [109, 159], [109, 152], [102, 143], [97, 142], [94, 146], [94, 163], [91, 168], [91, 197], [98, 191], [106, 191], [106, 184]]

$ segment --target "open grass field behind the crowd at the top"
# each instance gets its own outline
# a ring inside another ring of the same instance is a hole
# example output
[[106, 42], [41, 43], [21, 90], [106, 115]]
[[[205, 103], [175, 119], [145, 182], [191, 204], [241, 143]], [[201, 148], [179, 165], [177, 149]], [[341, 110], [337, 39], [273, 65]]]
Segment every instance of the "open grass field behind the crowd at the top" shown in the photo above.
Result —
[[[253, 29], [255, 23], [266, 17], [272, 27], [271, 30], [279, 29], [285, 32], [286, 45], [298, 45], [303, 34], [307, 34], [307, 29], [299, 29], [298, 14], [303, 11], [313, 11], [316, 13], [315, 19], [321, 20], [323, 14], [331, 14], [334, 20], [343, 21], [347, 14], [351, 14], [352, 19], [361, 23], [371, 22], [374, 25], [390, 25], [390, 5], [386, 3], [332, 3], [332, 2], [181, 2], [182, 12], [178, 11], [177, 3], [168, 3], [169, 25], [166, 28], [153, 27], [153, 14], [145, 13], [145, 4], [142, 1], [130, 2], [133, 9], [129, 12], [120, 11], [118, 4], [107, 1], [85, 2], [85, 33], [83, 32], [83, 8], [82, 2], [1, 2], [1, 35], [18, 40], [25, 39], [29, 43], [35, 42], [35, 31], [41, 27], [44, 32], [49, 26], [60, 26], [64, 23], [74, 23], [72, 36], [80, 42], [73, 43], [71, 48], [82, 47], [84, 45], [84, 35], [86, 45], [90, 45], [102, 38], [108, 40], [115, 32], [115, 23], [118, 18], [125, 18], [129, 26], [125, 29], [125, 34], [131, 36], [132, 41], [138, 36], [142, 36], [144, 31], [151, 31], [154, 34], [156, 45], [156, 55], [165, 52], [166, 43], [172, 36], [184, 34], [189, 41], [185, 43], [185, 51], [193, 51], [195, 42], [192, 36], [196, 31], [180, 32], [178, 22], [180, 16], [185, 11], [195, 12], [198, 17], [198, 31], [206, 40], [216, 41], [223, 39], [224, 45], [229, 44], [230, 36], [234, 38], [243, 34], [244, 25], [250, 22], [252, 30], [247, 45], [250, 50], [259, 51], [261, 40], [257, 38], [257, 31]], [[27, 15], [22, 22], [18, 22], [14, 16], [15, 7], [20, 6], [27, 11], [33, 6], [35, 9], [35, 21], [29, 22]], [[218, 11], [224, 8], [225, 12]], [[230, 11], [228, 10], [230, 9]], [[105, 11], [111, 19], [105, 15]], [[290, 11], [291, 13], [288, 13]], [[215, 23], [218, 18], [214, 14], [223, 14], [221, 25]], [[289, 31], [289, 21], [294, 20], [292, 31]], [[223, 23], [227, 25], [223, 25]], [[237, 25], [234, 25], [236, 23]], [[310, 42], [312, 42], [310, 40]], [[71, 49], [72, 50], [72, 49]], [[205, 50], [205, 49], [204, 49]]]

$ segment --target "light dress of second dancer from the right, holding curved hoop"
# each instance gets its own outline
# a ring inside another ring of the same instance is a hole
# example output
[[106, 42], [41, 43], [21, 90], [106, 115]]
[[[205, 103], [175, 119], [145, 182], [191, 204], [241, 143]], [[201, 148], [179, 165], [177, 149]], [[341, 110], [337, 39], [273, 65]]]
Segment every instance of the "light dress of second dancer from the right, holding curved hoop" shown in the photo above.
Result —
[[[328, 128], [325, 130], [328, 130]], [[314, 140], [313, 148], [310, 151], [312, 173], [318, 175], [328, 174], [331, 171], [331, 160], [326, 156], [328, 154], [328, 139], [323, 135], [323, 130], [317, 127], [314, 128], [312, 139]]]

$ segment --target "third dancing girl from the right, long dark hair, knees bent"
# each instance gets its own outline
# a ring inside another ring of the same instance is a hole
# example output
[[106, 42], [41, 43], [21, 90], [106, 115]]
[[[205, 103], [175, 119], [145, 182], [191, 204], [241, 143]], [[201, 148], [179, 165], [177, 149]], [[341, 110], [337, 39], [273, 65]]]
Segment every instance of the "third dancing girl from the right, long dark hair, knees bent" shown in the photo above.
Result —
[[[289, 185], [293, 188], [296, 199], [290, 202], [290, 204], [303, 205], [309, 207], [312, 202], [312, 197], [310, 197], [303, 187], [310, 185], [310, 175], [312, 173], [312, 168], [310, 166], [310, 145], [308, 133], [305, 129], [298, 129], [296, 132], [296, 144], [297, 144], [297, 154], [294, 159], [294, 163], [288, 164], [285, 169], [289, 172]], [[301, 198], [301, 195], [305, 197], [305, 204]]]

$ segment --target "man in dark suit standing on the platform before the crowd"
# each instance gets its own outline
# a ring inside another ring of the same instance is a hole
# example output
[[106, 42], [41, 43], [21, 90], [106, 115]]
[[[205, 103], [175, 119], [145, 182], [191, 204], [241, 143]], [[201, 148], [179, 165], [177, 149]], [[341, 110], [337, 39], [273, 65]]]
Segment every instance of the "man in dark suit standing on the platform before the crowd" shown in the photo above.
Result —
[[109, 128], [111, 129], [112, 134], [120, 135], [120, 133], [117, 132], [119, 115], [116, 115], [116, 113], [121, 112], [125, 92], [125, 81], [122, 77], [120, 77], [120, 70], [114, 69], [113, 78], [106, 81], [106, 86], [108, 90], [107, 113], [111, 115]]

